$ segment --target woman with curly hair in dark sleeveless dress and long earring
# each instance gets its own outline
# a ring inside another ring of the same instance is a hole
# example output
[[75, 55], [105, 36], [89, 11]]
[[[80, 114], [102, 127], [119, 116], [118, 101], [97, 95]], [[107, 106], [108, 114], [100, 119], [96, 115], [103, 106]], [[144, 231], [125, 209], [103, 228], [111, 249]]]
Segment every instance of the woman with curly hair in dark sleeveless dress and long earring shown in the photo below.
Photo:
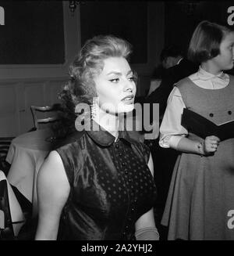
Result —
[[[119, 129], [136, 94], [130, 52], [121, 38], [97, 36], [74, 60], [60, 93], [63, 139], [37, 177], [36, 240], [158, 240], [151, 153]], [[80, 104], [91, 108], [90, 129], [77, 131], [77, 117], [87, 121]]]

